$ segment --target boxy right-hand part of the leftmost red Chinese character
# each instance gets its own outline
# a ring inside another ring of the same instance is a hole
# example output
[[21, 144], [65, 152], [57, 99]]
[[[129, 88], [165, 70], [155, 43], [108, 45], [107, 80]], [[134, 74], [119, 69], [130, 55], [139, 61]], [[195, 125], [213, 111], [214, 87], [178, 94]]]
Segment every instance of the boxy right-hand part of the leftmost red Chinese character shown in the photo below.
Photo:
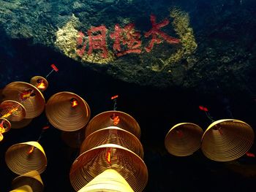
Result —
[[102, 50], [102, 58], [108, 58], [106, 34], [107, 28], [105, 26], [91, 27], [91, 29], [88, 30], [88, 55], [91, 55], [93, 50]]

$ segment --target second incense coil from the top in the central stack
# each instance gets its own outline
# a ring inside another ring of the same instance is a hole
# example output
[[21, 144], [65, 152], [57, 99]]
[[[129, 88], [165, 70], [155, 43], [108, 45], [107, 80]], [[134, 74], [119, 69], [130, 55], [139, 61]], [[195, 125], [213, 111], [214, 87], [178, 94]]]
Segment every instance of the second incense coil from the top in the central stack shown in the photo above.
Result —
[[121, 145], [122, 147], [132, 150], [132, 152], [139, 155], [140, 158], [143, 158], [143, 146], [140, 140], [128, 131], [116, 126], [99, 129], [86, 137], [83, 144], [80, 146], [80, 154], [93, 147], [104, 144]]

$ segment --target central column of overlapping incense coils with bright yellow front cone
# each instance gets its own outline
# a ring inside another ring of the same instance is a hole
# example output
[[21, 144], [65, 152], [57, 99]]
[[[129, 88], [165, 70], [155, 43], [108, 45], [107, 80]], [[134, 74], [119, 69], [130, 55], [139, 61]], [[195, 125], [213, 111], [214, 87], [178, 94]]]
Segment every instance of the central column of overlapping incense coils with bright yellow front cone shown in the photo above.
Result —
[[102, 112], [86, 126], [86, 139], [69, 172], [75, 191], [143, 191], [148, 170], [140, 126], [120, 111]]

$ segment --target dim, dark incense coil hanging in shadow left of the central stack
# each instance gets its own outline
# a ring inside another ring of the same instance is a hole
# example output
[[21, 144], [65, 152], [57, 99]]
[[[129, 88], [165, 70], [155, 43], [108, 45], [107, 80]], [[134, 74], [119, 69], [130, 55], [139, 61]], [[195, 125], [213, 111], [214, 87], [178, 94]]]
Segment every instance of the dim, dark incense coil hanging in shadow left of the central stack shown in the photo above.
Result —
[[79, 148], [85, 137], [85, 128], [78, 131], [62, 131], [61, 139], [72, 148]]

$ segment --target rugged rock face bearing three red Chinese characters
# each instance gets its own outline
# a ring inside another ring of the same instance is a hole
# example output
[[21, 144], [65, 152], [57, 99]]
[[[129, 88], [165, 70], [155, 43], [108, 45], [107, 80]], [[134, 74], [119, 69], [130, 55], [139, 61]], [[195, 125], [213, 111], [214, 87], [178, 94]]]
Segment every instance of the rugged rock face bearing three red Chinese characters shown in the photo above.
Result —
[[232, 89], [232, 80], [246, 90], [255, 72], [255, 2], [241, 2], [3, 1], [0, 23], [10, 39], [126, 82], [213, 90]]

